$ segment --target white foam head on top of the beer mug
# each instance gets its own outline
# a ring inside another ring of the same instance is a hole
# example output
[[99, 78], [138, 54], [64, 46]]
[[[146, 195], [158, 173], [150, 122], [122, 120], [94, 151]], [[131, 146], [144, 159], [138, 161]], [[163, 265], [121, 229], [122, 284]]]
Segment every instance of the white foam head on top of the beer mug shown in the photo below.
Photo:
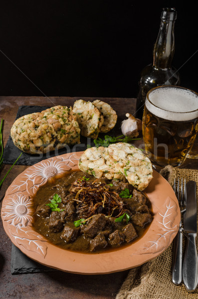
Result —
[[[154, 89], [146, 99], [147, 109], [170, 121], [189, 121], [198, 117], [198, 95], [190, 90], [174, 87]], [[152, 105], [153, 104], [153, 105]]]

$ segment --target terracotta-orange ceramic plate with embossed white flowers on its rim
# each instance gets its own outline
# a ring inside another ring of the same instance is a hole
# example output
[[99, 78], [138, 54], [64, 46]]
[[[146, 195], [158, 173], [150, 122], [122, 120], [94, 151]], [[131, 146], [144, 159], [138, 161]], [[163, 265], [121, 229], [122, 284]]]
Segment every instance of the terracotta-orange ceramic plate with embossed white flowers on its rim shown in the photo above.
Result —
[[45, 266], [77, 274], [107, 274], [124, 271], [159, 256], [173, 241], [180, 223], [180, 208], [171, 185], [154, 170], [145, 190], [154, 219], [142, 238], [112, 252], [83, 254], [49, 243], [32, 228], [32, 198], [47, 181], [78, 169], [81, 152], [43, 160], [18, 175], [6, 191], [2, 203], [3, 227], [12, 243], [25, 255]]

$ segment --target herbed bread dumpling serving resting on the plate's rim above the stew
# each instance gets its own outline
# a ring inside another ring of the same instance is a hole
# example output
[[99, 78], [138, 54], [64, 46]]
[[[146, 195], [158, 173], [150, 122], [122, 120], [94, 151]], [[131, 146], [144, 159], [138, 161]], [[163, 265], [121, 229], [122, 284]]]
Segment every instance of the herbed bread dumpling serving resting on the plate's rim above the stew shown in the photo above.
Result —
[[138, 148], [127, 143], [108, 148], [89, 148], [80, 156], [78, 167], [97, 178], [127, 180], [138, 190], [144, 190], [153, 178], [150, 159]]

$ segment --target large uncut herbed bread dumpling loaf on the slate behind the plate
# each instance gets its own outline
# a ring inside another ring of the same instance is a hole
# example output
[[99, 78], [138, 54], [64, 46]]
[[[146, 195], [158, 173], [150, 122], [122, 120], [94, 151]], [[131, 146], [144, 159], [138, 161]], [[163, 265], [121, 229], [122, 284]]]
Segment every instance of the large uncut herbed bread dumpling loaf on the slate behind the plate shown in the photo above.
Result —
[[72, 107], [58, 105], [18, 118], [10, 136], [14, 145], [26, 153], [46, 153], [80, 143], [80, 128]]

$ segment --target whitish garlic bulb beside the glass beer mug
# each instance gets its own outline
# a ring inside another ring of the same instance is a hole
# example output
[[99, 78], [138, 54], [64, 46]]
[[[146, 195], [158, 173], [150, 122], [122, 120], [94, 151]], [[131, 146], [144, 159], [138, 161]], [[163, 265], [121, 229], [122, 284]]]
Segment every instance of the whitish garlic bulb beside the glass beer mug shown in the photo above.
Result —
[[142, 130], [142, 121], [136, 119], [132, 114], [127, 113], [127, 120], [122, 121], [121, 130], [124, 136], [137, 137], [138, 131]]

